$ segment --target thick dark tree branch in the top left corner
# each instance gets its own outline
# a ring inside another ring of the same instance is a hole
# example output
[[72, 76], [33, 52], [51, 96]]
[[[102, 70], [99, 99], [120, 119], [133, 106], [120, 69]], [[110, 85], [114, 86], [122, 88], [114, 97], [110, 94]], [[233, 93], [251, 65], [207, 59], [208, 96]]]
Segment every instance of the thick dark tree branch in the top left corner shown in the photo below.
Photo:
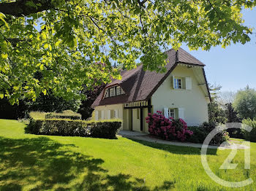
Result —
[[[37, 8], [30, 6], [29, 2], [33, 2]], [[40, 6], [38, 4], [41, 4]], [[15, 17], [23, 17], [31, 15], [32, 13], [42, 12], [52, 8], [50, 0], [40, 1], [40, 0], [17, 0], [14, 2], [4, 2], [0, 3], [0, 12], [4, 15], [13, 15]]]

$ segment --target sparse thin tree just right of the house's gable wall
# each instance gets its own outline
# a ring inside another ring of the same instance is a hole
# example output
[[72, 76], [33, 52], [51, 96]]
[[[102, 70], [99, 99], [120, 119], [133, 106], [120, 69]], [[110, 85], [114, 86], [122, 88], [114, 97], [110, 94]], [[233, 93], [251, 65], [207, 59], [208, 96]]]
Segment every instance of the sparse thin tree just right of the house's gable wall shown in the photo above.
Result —
[[211, 104], [208, 104], [209, 122], [225, 123], [227, 118], [225, 111], [218, 103], [219, 90], [222, 88], [221, 85], [210, 85], [208, 84], [209, 91], [211, 93]]

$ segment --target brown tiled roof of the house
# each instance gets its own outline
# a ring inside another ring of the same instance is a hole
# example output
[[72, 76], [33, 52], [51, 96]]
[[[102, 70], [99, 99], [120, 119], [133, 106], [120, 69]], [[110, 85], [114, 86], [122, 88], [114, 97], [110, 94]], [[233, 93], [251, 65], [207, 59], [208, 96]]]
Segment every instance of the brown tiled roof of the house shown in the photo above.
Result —
[[156, 71], [144, 71], [143, 65], [138, 66], [136, 69], [121, 71], [122, 79], [114, 79], [105, 88], [112, 85], [120, 85], [123, 88], [125, 94], [116, 95], [110, 98], [104, 98], [102, 93], [99, 94], [97, 99], [91, 105], [102, 106], [109, 104], [124, 104], [132, 101], [143, 101], [151, 98], [151, 95], [157, 90], [157, 88], [165, 81], [170, 72], [176, 67], [177, 63], [187, 63], [197, 66], [205, 66], [198, 61], [195, 57], [188, 52], [179, 48], [176, 50], [168, 50], [167, 52], [167, 65], [165, 66], [167, 71], [165, 73], [157, 73]]

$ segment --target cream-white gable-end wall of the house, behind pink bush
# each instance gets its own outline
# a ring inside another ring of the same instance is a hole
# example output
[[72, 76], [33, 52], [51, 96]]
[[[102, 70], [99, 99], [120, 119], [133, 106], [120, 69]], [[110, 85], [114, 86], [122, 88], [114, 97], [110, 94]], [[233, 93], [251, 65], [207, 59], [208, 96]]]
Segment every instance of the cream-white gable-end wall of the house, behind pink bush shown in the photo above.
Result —
[[[175, 77], [191, 77], [192, 90], [173, 90], [173, 75]], [[188, 69], [186, 66], [176, 66], [170, 76], [152, 95], [153, 111], [163, 112], [165, 107], [184, 108], [184, 120], [187, 125], [200, 125], [202, 122], [208, 122], [208, 98], [198, 84], [192, 69]]]

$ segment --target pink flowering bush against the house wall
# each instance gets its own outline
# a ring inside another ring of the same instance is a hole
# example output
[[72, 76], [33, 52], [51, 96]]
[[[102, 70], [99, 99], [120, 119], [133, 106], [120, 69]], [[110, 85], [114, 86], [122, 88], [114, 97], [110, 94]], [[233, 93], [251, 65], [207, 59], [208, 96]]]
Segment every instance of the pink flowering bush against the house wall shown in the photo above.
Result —
[[186, 141], [192, 136], [193, 131], [187, 129], [187, 123], [182, 119], [166, 118], [162, 112], [148, 113], [146, 117], [148, 132], [165, 140]]

